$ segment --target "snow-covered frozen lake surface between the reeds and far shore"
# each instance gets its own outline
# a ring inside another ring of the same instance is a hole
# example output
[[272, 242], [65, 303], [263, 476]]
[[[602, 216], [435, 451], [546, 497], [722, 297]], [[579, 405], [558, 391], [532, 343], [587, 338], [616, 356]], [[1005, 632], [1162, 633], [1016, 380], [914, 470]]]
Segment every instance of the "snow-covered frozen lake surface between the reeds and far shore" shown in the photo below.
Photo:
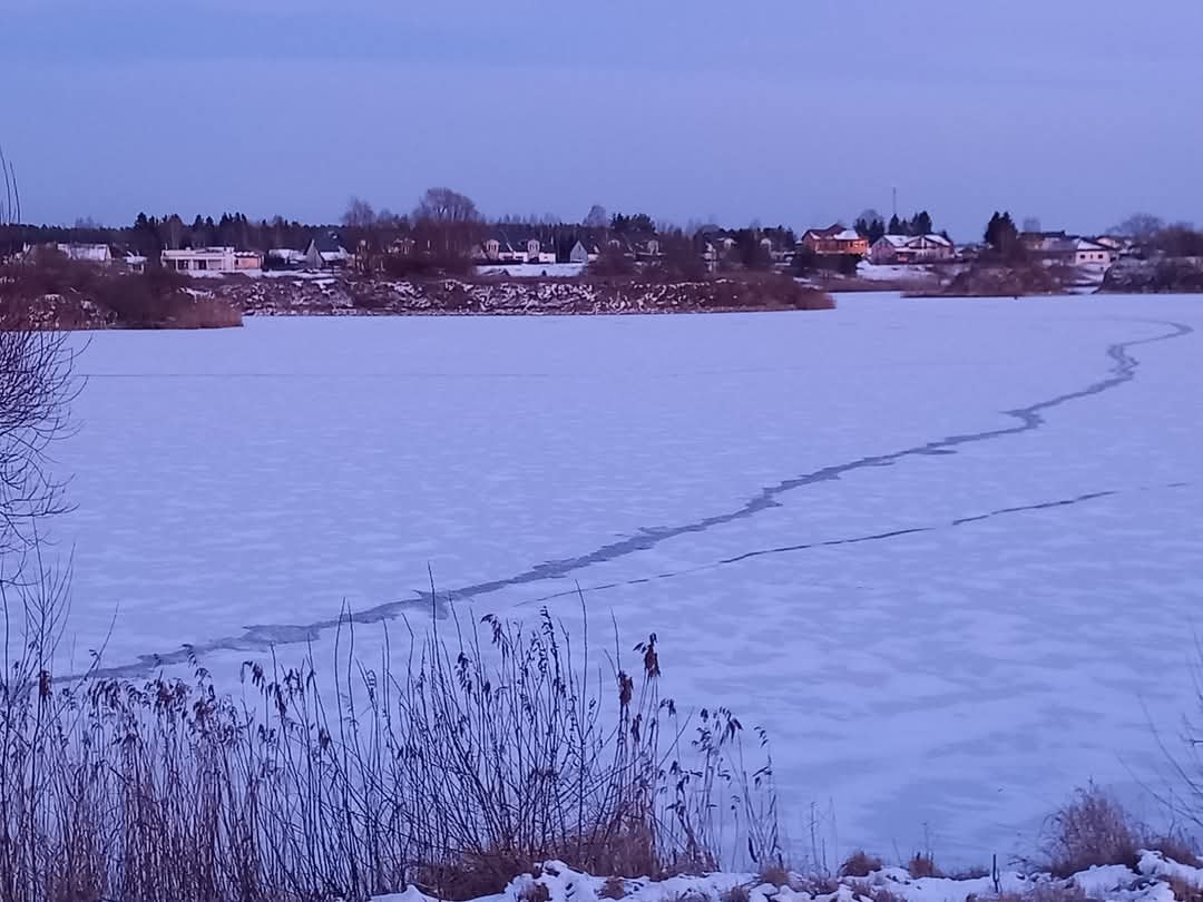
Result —
[[[279, 319], [91, 338], [71, 636], [231, 676], [345, 600], [656, 630], [786, 826], [988, 861], [1161, 762], [1203, 612], [1203, 297]], [[1009, 411], [1009, 413], [1008, 413]], [[290, 645], [292, 643], [292, 645]], [[137, 673], [134, 666], [128, 672]]]

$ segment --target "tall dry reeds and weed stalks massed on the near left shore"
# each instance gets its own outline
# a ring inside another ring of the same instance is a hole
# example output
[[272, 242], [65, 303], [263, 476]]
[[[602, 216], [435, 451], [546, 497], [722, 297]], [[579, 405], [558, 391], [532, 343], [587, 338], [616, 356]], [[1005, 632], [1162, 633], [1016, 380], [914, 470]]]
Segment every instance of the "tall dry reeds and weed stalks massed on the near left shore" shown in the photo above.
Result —
[[771, 771], [745, 770], [730, 712], [691, 720], [660, 695], [656, 636], [628, 672], [546, 612], [456, 621], [410, 634], [397, 672], [387, 648], [357, 660], [346, 618], [331, 670], [248, 663], [236, 699], [200, 665], [57, 684], [65, 587], [0, 591], [22, 643], [0, 684], [6, 901], [466, 898], [546, 859], [780, 859]]

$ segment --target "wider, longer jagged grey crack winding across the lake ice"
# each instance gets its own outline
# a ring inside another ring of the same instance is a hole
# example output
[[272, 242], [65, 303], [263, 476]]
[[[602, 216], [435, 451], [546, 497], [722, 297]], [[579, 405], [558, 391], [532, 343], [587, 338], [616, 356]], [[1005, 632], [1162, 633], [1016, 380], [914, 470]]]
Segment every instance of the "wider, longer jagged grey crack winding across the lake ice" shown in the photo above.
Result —
[[[472, 586], [464, 586], [449, 593], [444, 593], [440, 598], [437, 594], [432, 597], [428, 591], [419, 591], [414, 593], [414, 598], [403, 599], [399, 601], [387, 601], [374, 607], [356, 611], [350, 615], [350, 619], [355, 623], [374, 623], [378, 621], [390, 619], [404, 611], [415, 611], [422, 609], [433, 610], [434, 615], [438, 617], [446, 616], [448, 612], [448, 599], [451, 598], [474, 598], [479, 595], [487, 595], [494, 592], [499, 592], [504, 588], [510, 588], [514, 586], [523, 586], [532, 582], [540, 582], [544, 580], [558, 580], [563, 578], [573, 572], [583, 570], [593, 564], [600, 564], [610, 560], [615, 560], [622, 557], [635, 554], [641, 551], [648, 551], [657, 545], [668, 541], [670, 539], [676, 539], [682, 535], [688, 535], [692, 533], [704, 533], [715, 527], [725, 526], [728, 523], [734, 523], [748, 517], [754, 517], [757, 514], [770, 510], [772, 508], [781, 506], [781, 502], [777, 499], [793, 492], [798, 488], [805, 486], [812, 486], [819, 482], [829, 482], [832, 480], [841, 479], [843, 475], [849, 473], [855, 473], [857, 470], [867, 469], [871, 467], [889, 467], [899, 461], [903, 461], [908, 457], [917, 456], [930, 456], [930, 455], [949, 455], [955, 453], [956, 449], [977, 443], [992, 441], [995, 439], [1007, 438], [1011, 435], [1019, 435], [1026, 432], [1033, 432], [1044, 425], [1043, 414], [1056, 407], [1066, 404], [1073, 400], [1080, 400], [1083, 398], [1089, 398], [1095, 394], [1101, 394], [1112, 388], [1116, 388], [1126, 382], [1136, 379], [1137, 369], [1139, 368], [1139, 361], [1133, 357], [1128, 350], [1137, 348], [1139, 345], [1154, 344], [1157, 342], [1168, 342], [1175, 338], [1183, 338], [1191, 334], [1195, 330], [1181, 322], [1168, 322], [1160, 320], [1132, 320], [1136, 322], [1146, 322], [1158, 326], [1168, 327], [1168, 332], [1163, 332], [1150, 338], [1133, 339], [1130, 342], [1120, 342], [1110, 345], [1107, 349], [1107, 356], [1113, 361], [1109, 369], [1110, 375], [1097, 382], [1091, 382], [1084, 388], [1079, 388], [1072, 392], [1065, 392], [1057, 394], [1053, 398], [1045, 398], [1044, 400], [1036, 402], [1024, 408], [1015, 408], [1014, 410], [1005, 410], [1003, 415], [1018, 420], [1019, 422], [1014, 426], [1001, 427], [997, 429], [988, 429], [984, 432], [966, 433], [964, 435], [946, 435], [942, 439], [935, 441], [928, 441], [923, 445], [915, 445], [912, 447], [903, 449], [901, 451], [894, 451], [884, 455], [872, 455], [869, 457], [861, 457], [855, 461], [849, 461], [846, 463], [832, 464], [824, 467], [822, 469], [814, 470], [812, 473], [802, 474], [800, 476], [794, 476], [792, 479], [782, 480], [774, 486], [766, 486], [761, 488], [755, 495], [745, 502], [740, 508], [728, 511], [725, 514], [716, 514], [701, 520], [697, 520], [692, 523], [682, 523], [671, 527], [653, 527], [642, 528], [635, 535], [622, 539], [620, 541], [610, 542], [595, 548], [586, 554], [580, 554], [576, 557], [559, 558], [556, 560], [547, 560], [543, 564], [529, 568], [515, 576], [509, 576], [504, 578], [490, 580], [486, 582], [479, 582]], [[1074, 503], [1073, 500], [1066, 503]], [[895, 538], [897, 535], [906, 535], [914, 532], [925, 532], [935, 527], [923, 527], [909, 530], [896, 530], [893, 533], [882, 533], [873, 536], [860, 536], [847, 540], [832, 540], [837, 544], [851, 544], [859, 541], [875, 541], [879, 539]], [[822, 544], [820, 544], [822, 545]], [[798, 550], [801, 550], [800, 546]], [[751, 552], [755, 554], [758, 552]], [[769, 552], [759, 552], [769, 553]], [[659, 577], [656, 577], [659, 578]], [[614, 583], [615, 586], [622, 583]], [[599, 587], [608, 588], [608, 587]], [[138, 676], [146, 673], [148, 670], [174, 664], [185, 664], [194, 655], [201, 657], [211, 652], [218, 651], [255, 651], [266, 649], [272, 646], [290, 645], [296, 642], [308, 642], [315, 640], [324, 631], [334, 629], [342, 623], [346, 622], [346, 617], [334, 617], [316, 621], [310, 624], [297, 625], [297, 624], [257, 624], [251, 625], [245, 629], [241, 636], [229, 636], [224, 639], [217, 639], [208, 642], [185, 645], [178, 651], [167, 652], [164, 654], [143, 654], [140, 655], [137, 663], [126, 666], [106, 667], [96, 671], [100, 676], [106, 677], [129, 677]]]

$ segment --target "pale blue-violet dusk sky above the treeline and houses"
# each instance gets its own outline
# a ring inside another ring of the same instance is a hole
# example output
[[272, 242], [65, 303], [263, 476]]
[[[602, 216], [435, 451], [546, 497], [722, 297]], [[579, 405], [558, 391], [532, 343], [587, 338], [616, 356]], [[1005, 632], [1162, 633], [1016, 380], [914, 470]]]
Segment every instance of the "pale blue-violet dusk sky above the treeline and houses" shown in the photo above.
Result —
[[25, 219], [1203, 221], [1203, 0], [0, 0]]

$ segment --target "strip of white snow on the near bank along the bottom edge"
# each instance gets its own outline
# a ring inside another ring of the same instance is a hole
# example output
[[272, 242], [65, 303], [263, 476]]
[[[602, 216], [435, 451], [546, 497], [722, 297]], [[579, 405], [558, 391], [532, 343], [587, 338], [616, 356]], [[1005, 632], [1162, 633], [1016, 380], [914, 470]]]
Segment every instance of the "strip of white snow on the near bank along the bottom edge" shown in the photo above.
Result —
[[[968, 902], [1007, 897], [1011, 900], [1072, 900], [1078, 889], [1097, 902], [1173, 902], [1174, 894], [1165, 878], [1177, 877], [1187, 885], [1203, 886], [1203, 871], [1166, 861], [1156, 853], [1145, 853], [1138, 871], [1124, 866], [1095, 867], [1056, 880], [1048, 874], [1023, 874], [1014, 871], [992, 877], [913, 879], [905, 870], [887, 867], [861, 878], [835, 882], [788, 874], [783, 885], [765, 883], [749, 873], [716, 873], [697, 877], [672, 877], [665, 880], [622, 880], [623, 896], [630, 902], [722, 902], [733, 888], [747, 890], [748, 902], [871, 902], [875, 892], [888, 890], [905, 902]], [[476, 902], [599, 902], [606, 880], [579, 873], [558, 861], [541, 865], [532, 874], [514, 879], [505, 891]], [[375, 902], [433, 902], [414, 888], [395, 896], [379, 896]]]

